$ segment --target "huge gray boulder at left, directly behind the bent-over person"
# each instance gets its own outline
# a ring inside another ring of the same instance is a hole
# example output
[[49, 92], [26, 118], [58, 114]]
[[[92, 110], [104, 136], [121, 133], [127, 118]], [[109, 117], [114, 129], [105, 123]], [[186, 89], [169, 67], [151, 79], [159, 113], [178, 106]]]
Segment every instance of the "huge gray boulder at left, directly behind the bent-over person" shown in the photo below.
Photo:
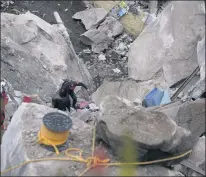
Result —
[[92, 82], [58, 29], [30, 12], [1, 14], [1, 48], [2, 77], [26, 94], [48, 101], [64, 78]]

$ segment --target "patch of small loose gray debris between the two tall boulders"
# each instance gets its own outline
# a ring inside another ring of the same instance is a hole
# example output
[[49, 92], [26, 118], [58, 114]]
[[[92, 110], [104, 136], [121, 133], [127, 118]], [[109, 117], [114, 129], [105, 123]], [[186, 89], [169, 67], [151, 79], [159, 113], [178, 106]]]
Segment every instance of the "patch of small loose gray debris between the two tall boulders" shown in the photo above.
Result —
[[[96, 83], [96, 89], [104, 79], [125, 78], [128, 76], [128, 51], [133, 38], [123, 33], [110, 45], [109, 49], [99, 54], [93, 53], [89, 48], [79, 53], [80, 58], [86, 58], [85, 64]], [[118, 69], [119, 72], [116, 72]]]

